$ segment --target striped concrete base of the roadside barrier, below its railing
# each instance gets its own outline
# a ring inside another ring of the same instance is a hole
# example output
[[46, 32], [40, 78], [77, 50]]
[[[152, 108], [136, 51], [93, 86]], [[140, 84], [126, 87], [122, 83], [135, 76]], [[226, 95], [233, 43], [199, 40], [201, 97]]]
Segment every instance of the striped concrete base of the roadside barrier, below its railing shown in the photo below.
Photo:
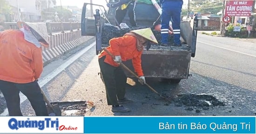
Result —
[[81, 36], [81, 31], [58, 33], [49, 35], [49, 48], [42, 47], [44, 65], [51, 62], [54, 58], [63, 55], [74, 47], [85, 43], [93, 36]]

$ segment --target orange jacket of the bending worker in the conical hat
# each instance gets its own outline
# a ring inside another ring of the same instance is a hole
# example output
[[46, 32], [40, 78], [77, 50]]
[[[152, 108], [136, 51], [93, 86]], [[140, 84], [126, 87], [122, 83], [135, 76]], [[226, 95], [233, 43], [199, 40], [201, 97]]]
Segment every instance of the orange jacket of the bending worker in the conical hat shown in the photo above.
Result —
[[[138, 76], [144, 76], [141, 69], [141, 54], [142, 51], [138, 51], [136, 47], [136, 38], [134, 36], [123, 36], [119, 38], [112, 38], [109, 40], [109, 46], [107, 50], [111, 52], [114, 56], [121, 56], [122, 61], [127, 61], [132, 59], [134, 70]], [[104, 62], [118, 67], [114, 59], [108, 55], [107, 52], [102, 51], [99, 58], [106, 56]]]

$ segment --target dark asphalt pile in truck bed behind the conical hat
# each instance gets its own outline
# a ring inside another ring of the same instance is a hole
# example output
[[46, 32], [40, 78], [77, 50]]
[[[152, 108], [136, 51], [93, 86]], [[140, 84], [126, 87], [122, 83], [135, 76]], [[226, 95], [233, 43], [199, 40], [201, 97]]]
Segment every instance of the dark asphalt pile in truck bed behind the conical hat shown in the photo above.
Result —
[[[105, 23], [104, 26], [102, 26], [102, 31], [101, 31], [101, 44], [109, 45], [109, 40], [111, 38], [122, 37], [125, 33], [130, 32], [132, 30], [144, 29], [148, 27], [149, 26], [141, 26], [141, 27], [135, 27], [135, 28], [119, 28], [117, 26], [113, 26], [108, 23]], [[153, 30], [152, 28], [151, 30], [158, 42], [158, 44], [151, 43], [151, 45], [161, 46], [162, 45], [161, 32]], [[168, 42], [169, 42], [169, 45], [173, 44], [173, 35], [168, 36]]]

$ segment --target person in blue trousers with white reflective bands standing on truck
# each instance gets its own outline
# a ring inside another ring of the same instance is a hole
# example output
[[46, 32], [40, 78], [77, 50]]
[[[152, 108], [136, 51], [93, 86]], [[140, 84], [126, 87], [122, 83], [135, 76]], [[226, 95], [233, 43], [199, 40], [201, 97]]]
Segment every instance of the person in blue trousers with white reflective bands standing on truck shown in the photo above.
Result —
[[162, 4], [161, 36], [162, 45], [168, 46], [169, 21], [172, 19], [174, 46], [181, 46], [181, 12], [183, 0], [159, 0]]

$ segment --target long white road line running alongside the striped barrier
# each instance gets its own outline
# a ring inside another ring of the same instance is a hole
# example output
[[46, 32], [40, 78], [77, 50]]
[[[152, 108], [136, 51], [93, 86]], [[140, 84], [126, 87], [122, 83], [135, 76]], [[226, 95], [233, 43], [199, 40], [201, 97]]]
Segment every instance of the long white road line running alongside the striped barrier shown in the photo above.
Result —
[[[76, 59], [78, 59], [79, 57], [81, 57], [85, 52], [87, 52], [90, 48], [92, 48], [96, 43], [92, 43], [91, 45], [87, 46], [86, 48], [84, 48], [83, 50], [81, 50], [79, 53], [77, 53], [76, 55], [74, 55], [73, 57], [71, 57], [70, 59], [68, 59], [65, 63], [61, 64], [58, 68], [56, 68], [55, 70], [53, 70], [51, 73], [49, 73], [46, 77], [43, 77], [40, 79], [40, 81], [38, 81], [40, 87], [43, 87], [45, 84], [47, 84], [49, 81], [51, 81], [54, 77], [56, 77], [59, 73], [61, 73], [62, 70], [65, 70], [65, 68], [67, 68], [67, 66], [69, 66], [70, 64], [72, 64]], [[27, 100], [27, 97], [24, 96], [21, 92], [20, 92], [20, 104], [22, 102], [24, 102], [25, 100]], [[8, 109], [6, 108], [4, 110], [3, 113], [0, 114], [0, 116], [7, 116], [8, 115]]]

